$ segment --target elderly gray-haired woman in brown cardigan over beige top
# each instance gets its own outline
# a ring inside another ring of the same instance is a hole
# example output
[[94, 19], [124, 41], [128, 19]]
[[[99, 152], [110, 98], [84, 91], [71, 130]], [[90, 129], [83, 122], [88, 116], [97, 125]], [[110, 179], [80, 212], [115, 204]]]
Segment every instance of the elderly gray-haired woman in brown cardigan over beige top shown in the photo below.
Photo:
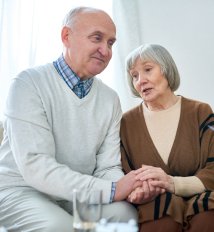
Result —
[[126, 61], [130, 89], [142, 103], [123, 115], [122, 164], [137, 170], [140, 231], [214, 231], [214, 114], [178, 96], [180, 76], [169, 52], [146, 44]]

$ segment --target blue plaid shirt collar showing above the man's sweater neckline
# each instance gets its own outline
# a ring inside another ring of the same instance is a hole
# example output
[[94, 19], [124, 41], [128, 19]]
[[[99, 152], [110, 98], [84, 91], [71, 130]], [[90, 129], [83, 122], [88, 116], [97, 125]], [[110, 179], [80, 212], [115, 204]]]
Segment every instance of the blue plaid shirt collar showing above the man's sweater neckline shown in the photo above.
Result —
[[81, 81], [81, 79], [66, 64], [63, 55], [61, 55], [56, 61], [54, 61], [53, 65], [56, 68], [59, 75], [69, 86], [69, 88], [73, 90], [73, 92], [79, 98], [83, 98], [89, 93], [92, 87], [93, 78]]

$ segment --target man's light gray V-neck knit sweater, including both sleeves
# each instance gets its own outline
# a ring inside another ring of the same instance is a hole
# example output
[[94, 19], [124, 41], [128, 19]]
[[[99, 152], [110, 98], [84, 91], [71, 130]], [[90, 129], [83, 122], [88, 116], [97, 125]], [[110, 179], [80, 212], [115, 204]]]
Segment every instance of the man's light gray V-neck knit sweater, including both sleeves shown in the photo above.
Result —
[[74, 188], [103, 189], [108, 203], [120, 163], [121, 107], [117, 94], [94, 78], [79, 99], [52, 64], [14, 79], [0, 148], [0, 189], [31, 186], [72, 200]]

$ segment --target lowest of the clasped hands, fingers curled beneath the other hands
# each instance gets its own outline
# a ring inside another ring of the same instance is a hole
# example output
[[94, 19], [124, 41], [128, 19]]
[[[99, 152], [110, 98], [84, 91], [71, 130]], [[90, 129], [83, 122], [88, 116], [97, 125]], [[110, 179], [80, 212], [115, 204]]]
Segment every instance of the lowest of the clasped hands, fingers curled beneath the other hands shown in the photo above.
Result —
[[143, 181], [140, 187], [137, 187], [128, 196], [127, 201], [134, 204], [144, 204], [154, 200], [159, 194], [165, 192], [165, 189], [154, 187], [152, 180]]

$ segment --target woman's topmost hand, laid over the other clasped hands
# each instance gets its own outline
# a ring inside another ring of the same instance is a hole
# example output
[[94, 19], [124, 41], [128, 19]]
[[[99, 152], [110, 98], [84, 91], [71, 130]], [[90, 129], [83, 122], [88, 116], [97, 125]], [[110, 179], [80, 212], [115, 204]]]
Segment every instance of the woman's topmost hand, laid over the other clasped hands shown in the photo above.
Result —
[[166, 174], [161, 168], [143, 165], [135, 171], [136, 180], [143, 183], [150, 180], [150, 185], [155, 188], [165, 189], [165, 191], [174, 193], [175, 187], [172, 176]]

